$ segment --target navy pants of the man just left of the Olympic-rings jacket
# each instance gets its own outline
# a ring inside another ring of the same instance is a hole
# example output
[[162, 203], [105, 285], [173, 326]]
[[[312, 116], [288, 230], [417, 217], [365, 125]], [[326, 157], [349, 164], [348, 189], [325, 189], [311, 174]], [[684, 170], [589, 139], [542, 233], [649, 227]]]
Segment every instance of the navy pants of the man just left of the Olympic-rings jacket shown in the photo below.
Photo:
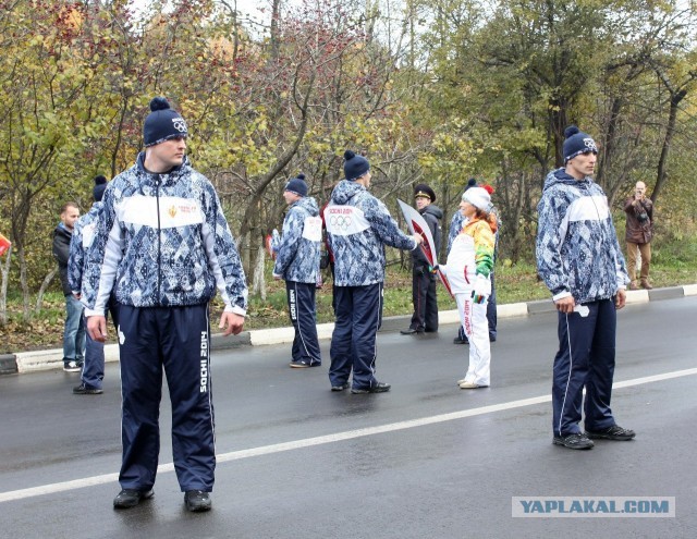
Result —
[[288, 307], [291, 323], [295, 329], [292, 355], [294, 362], [306, 362], [308, 365], [321, 365], [317, 339], [317, 309], [315, 306], [315, 283], [285, 281]]

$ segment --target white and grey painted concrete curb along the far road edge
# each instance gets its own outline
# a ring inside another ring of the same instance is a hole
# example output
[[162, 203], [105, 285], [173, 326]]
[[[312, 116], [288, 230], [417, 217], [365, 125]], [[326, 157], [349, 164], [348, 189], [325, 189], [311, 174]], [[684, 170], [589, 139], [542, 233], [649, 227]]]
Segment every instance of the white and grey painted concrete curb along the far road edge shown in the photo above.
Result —
[[[697, 295], [697, 284], [684, 286], [671, 286], [667, 289], [634, 290], [627, 291], [627, 304], [656, 302], [660, 299], [673, 299], [676, 297]], [[499, 318], [516, 316], [539, 315], [553, 313], [554, 304], [550, 299], [541, 299], [527, 303], [512, 303], [497, 306]], [[457, 310], [441, 310], [438, 314], [440, 323], [457, 323], [460, 316]], [[390, 332], [404, 329], [411, 321], [411, 315], [386, 317], [382, 319], [380, 332]], [[318, 323], [319, 339], [330, 339], [334, 329], [333, 323]], [[283, 344], [293, 342], [293, 328], [273, 328], [264, 330], [244, 331], [239, 335], [222, 336], [213, 334], [210, 339], [211, 351], [237, 348], [241, 346], [264, 346], [268, 344]], [[107, 344], [105, 346], [107, 362], [119, 360], [119, 345]], [[19, 354], [0, 355], [0, 375], [14, 375], [35, 372], [38, 370], [61, 369], [63, 367], [63, 351], [61, 348], [40, 350], [34, 352], [21, 352]]]

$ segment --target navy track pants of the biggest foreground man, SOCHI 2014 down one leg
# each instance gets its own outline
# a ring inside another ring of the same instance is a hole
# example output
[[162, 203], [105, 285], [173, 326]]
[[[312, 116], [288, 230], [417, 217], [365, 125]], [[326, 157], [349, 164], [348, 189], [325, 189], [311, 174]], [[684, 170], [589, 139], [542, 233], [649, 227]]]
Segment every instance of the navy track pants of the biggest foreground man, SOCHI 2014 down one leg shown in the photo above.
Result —
[[121, 441], [119, 482], [155, 485], [160, 452], [162, 370], [172, 404], [172, 453], [182, 491], [213, 487], [216, 449], [208, 306], [119, 306]]

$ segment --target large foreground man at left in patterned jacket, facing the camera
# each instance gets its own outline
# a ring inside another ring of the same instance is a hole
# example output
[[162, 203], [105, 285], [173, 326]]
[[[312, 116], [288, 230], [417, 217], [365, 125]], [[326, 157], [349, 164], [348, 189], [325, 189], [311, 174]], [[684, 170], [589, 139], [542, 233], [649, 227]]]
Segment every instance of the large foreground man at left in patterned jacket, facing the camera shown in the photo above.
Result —
[[119, 303], [123, 455], [114, 507], [152, 495], [164, 370], [176, 478], [186, 507], [208, 511], [216, 467], [208, 304], [218, 290], [219, 328], [239, 333], [247, 287], [218, 195], [186, 160], [186, 122], [163, 98], [150, 109], [145, 152], [105, 192], [83, 302], [87, 329], [102, 342], [112, 289]]

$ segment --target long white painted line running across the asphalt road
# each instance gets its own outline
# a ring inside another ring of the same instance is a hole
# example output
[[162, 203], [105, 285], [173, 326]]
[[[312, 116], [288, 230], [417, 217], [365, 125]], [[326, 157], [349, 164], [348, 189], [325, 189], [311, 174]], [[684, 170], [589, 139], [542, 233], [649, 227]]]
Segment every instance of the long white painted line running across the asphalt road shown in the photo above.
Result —
[[[635, 378], [633, 380], [625, 380], [623, 382], [615, 382], [613, 389], [632, 388], [634, 385], [643, 385], [645, 383], [660, 382], [663, 380], [671, 380], [673, 378], [682, 378], [686, 376], [697, 375], [697, 368], [675, 370], [673, 372], [664, 372], [662, 375], [647, 376], [643, 378]], [[464, 419], [465, 417], [480, 416], [484, 414], [492, 414], [494, 412], [503, 412], [506, 409], [522, 408], [525, 406], [531, 406], [534, 404], [548, 403], [552, 400], [551, 395], [535, 396], [531, 399], [522, 399], [519, 401], [511, 401], [508, 403], [492, 404], [490, 406], [481, 406], [479, 408], [463, 409], [460, 412], [452, 412], [450, 414], [439, 414], [437, 416], [423, 417], [420, 419], [409, 419], [406, 421], [391, 422], [388, 425], [379, 425], [376, 427], [368, 427], [365, 429], [346, 430], [344, 432], [337, 432], [335, 434], [318, 436], [315, 438], [306, 438], [304, 440], [294, 440], [292, 442], [273, 443], [271, 445], [261, 445], [260, 448], [252, 448], [247, 450], [231, 451], [229, 453], [222, 453], [217, 455], [216, 461], [218, 464], [230, 461], [240, 461], [241, 458], [250, 458], [254, 456], [270, 455], [273, 453], [282, 453], [284, 451], [293, 451], [296, 449], [311, 448], [314, 445], [322, 445], [325, 443], [341, 442], [344, 440], [353, 440], [355, 438], [363, 438], [366, 436], [383, 434], [386, 432], [393, 432], [395, 430], [406, 430], [417, 427], [424, 427], [426, 425], [435, 425], [439, 422], [453, 421], [455, 419]], [[173, 471], [174, 464], [161, 464], [158, 466], [158, 474], [167, 471]], [[0, 492], [0, 503], [22, 500], [25, 498], [34, 498], [44, 494], [53, 494], [57, 492], [65, 492], [68, 490], [83, 489], [86, 487], [95, 487], [97, 485], [106, 485], [108, 482], [118, 482], [119, 474], [103, 474], [100, 476], [86, 477], [84, 479], [75, 479], [72, 481], [54, 482], [51, 485], [42, 485], [40, 487], [33, 487], [28, 489], [12, 490], [9, 492]]]

